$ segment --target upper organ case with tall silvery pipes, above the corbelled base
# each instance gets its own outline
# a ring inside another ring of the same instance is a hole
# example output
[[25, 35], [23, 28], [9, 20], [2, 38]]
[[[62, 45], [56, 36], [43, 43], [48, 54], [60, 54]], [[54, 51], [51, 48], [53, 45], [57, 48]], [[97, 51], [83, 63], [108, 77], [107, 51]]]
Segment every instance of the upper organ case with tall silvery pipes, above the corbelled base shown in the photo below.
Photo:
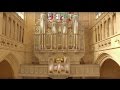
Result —
[[[84, 51], [84, 31], [80, 27], [79, 15], [72, 18], [58, 17], [53, 13], [41, 13], [36, 19], [34, 51]], [[51, 19], [52, 18], [52, 19]]]

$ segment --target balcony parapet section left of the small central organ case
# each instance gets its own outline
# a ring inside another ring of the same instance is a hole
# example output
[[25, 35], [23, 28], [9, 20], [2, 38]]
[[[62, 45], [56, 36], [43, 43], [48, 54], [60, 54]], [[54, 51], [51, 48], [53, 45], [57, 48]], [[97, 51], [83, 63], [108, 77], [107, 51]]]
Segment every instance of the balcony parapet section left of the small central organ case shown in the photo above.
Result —
[[21, 65], [19, 76], [48, 77], [48, 66], [47, 65]]

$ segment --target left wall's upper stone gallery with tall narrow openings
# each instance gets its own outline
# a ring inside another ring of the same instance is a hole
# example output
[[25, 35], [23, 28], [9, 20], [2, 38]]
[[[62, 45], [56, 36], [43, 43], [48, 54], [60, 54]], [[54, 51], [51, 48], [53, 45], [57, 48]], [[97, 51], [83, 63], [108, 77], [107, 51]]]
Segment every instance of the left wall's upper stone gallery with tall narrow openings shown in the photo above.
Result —
[[2, 14], [0, 48], [24, 50], [24, 20], [15, 12], [3, 12]]

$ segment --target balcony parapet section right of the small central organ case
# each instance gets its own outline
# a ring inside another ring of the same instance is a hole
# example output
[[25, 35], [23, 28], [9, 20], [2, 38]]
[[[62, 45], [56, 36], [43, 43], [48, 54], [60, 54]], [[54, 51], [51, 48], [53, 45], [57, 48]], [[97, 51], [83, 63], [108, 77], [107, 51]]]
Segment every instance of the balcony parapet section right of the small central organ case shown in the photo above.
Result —
[[99, 65], [72, 65], [70, 77], [100, 77]]

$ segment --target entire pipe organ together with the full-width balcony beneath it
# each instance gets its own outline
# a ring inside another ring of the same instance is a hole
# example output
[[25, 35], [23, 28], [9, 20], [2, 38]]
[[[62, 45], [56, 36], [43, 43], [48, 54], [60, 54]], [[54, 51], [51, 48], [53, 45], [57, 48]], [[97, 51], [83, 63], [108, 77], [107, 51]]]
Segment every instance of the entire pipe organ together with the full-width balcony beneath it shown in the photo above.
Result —
[[40, 12], [35, 17], [35, 63], [22, 65], [21, 76], [53, 79], [99, 76], [99, 65], [80, 65], [84, 63], [85, 46], [84, 26], [78, 13]]

